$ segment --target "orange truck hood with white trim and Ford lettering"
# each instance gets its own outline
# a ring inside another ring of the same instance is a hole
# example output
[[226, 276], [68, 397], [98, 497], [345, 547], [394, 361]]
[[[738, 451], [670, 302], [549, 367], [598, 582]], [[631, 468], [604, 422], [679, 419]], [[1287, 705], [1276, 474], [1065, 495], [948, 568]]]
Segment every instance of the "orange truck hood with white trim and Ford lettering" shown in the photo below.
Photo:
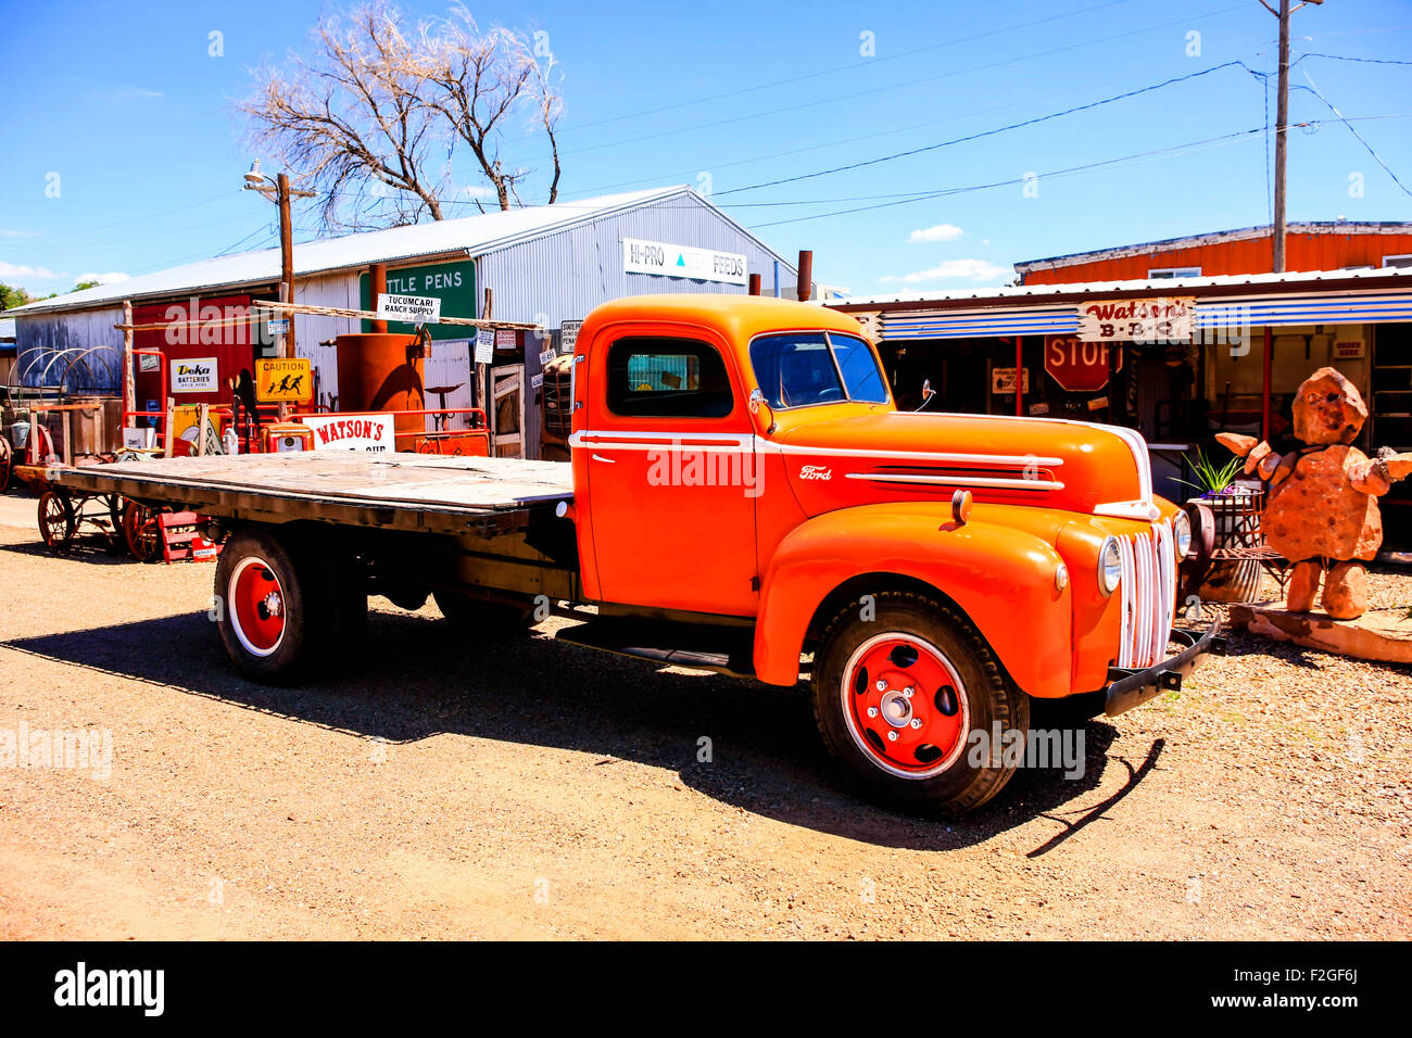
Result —
[[851, 504], [950, 500], [970, 490], [977, 501], [1159, 518], [1147, 442], [1132, 429], [877, 410], [781, 419], [758, 449], [781, 456], [810, 515]]

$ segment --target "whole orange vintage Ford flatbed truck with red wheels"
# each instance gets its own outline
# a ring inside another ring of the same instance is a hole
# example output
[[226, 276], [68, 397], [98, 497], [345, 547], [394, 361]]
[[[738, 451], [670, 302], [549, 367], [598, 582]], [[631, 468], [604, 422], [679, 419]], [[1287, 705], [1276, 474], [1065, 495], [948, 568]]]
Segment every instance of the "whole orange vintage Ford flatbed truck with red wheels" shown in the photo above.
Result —
[[[309, 452], [58, 473], [210, 517], [219, 631], [289, 681], [383, 595], [467, 637], [556, 637], [795, 685], [864, 792], [974, 808], [1034, 699], [1121, 713], [1210, 651], [1172, 628], [1190, 531], [1130, 429], [898, 411], [858, 323], [736, 295], [594, 309], [572, 462]], [[1172, 643], [1183, 645], [1173, 655]]]

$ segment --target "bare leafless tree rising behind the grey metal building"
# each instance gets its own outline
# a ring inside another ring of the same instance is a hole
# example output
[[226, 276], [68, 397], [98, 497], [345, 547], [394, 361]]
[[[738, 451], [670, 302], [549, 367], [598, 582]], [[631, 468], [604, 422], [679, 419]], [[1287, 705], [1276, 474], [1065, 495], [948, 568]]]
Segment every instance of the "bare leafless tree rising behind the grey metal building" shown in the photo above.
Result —
[[501, 155], [521, 110], [549, 140], [549, 202], [558, 198], [561, 76], [524, 34], [481, 32], [465, 7], [408, 30], [388, 0], [370, 0], [346, 18], [321, 18], [312, 44], [312, 56], [292, 56], [287, 69], [257, 71], [239, 110], [247, 143], [318, 192], [326, 229], [445, 219], [462, 143], [508, 209], [532, 172], [505, 168]]

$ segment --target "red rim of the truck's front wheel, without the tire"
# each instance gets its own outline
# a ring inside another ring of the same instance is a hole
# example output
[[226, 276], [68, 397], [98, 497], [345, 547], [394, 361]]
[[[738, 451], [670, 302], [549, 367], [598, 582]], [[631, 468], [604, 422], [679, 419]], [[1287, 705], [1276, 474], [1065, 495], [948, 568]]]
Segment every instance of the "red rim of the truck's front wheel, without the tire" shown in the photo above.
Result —
[[966, 688], [925, 638], [901, 633], [868, 638], [844, 667], [840, 695], [853, 741], [891, 775], [933, 778], [966, 748]]

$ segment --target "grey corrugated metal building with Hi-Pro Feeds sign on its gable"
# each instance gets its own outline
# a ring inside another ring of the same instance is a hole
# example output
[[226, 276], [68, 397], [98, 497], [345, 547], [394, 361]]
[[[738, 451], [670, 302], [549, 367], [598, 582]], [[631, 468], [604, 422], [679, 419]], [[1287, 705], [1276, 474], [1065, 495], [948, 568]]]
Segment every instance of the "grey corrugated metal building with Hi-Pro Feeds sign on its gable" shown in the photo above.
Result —
[[[666, 250], [679, 247], [674, 253], [676, 263], [668, 260], [657, 273], [644, 273], [644, 264], [630, 261], [628, 240], [664, 244]], [[740, 268], [730, 263], [717, 270], [692, 268], [686, 263], [690, 250], [736, 257]], [[439, 295], [443, 316], [480, 316], [489, 288], [494, 318], [545, 328], [548, 340], [532, 333], [521, 340], [520, 377], [527, 390], [539, 374], [539, 352], [558, 340], [561, 325], [582, 321], [600, 302], [657, 292], [744, 294], [751, 273], [762, 274], [767, 292], [772, 285], [795, 282], [792, 264], [685, 185], [295, 244], [295, 302], [367, 309], [367, 267], [373, 263], [387, 264], [388, 292]], [[8, 315], [16, 318], [18, 381], [52, 386], [72, 364], [66, 388], [80, 383], [83, 388], [119, 393], [121, 335], [113, 325], [121, 322], [123, 301], [175, 328], [196, 319], [192, 311], [216, 299], [223, 308], [232, 301], [239, 306], [241, 298], [277, 299], [278, 280], [280, 250], [270, 249], [28, 304]], [[297, 352], [315, 364], [321, 402], [336, 404], [339, 395], [336, 350], [329, 343], [359, 330], [366, 329], [350, 318], [295, 315]], [[409, 329], [391, 325], [390, 330]], [[433, 329], [436, 342], [424, 370], [428, 407], [472, 405], [473, 339], [466, 338], [467, 330], [450, 325]], [[160, 346], [169, 360], [217, 353], [206, 339], [172, 345], [164, 332], [147, 336], [138, 347]], [[253, 357], [273, 356], [273, 342], [253, 338]], [[85, 350], [92, 352], [78, 362]], [[225, 366], [225, 346], [220, 353]], [[220, 384], [234, 374], [220, 371]], [[138, 383], [138, 408], [144, 397], [155, 394], [155, 388]], [[537, 445], [539, 414], [532, 390], [524, 400], [524, 442]]]

